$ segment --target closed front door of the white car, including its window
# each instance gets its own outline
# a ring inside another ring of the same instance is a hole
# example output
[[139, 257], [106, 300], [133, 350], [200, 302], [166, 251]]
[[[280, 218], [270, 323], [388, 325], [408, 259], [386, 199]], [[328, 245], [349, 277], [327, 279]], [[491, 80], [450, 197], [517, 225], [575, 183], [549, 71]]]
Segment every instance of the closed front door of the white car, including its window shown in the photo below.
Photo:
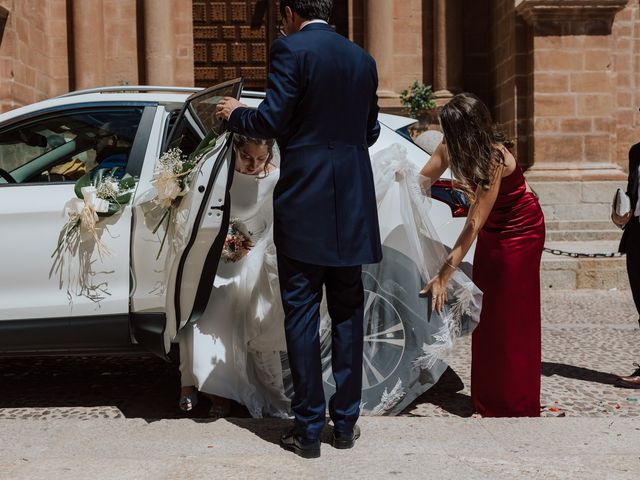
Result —
[[67, 105], [0, 125], [0, 351], [128, 342], [130, 206], [99, 222], [108, 254], [90, 240], [54, 251], [76, 179], [116, 150], [129, 169], [154, 111]]

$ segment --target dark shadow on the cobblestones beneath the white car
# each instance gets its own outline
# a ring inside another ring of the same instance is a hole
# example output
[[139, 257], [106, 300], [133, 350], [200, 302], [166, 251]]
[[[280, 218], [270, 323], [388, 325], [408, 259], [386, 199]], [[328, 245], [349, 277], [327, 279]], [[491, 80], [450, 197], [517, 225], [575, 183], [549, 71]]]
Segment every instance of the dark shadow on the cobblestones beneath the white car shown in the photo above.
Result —
[[[62, 416], [65, 417], [157, 419], [185, 416], [178, 408], [180, 375], [177, 364], [155, 357], [3, 358], [0, 360], [0, 391], [2, 409], [64, 408]], [[74, 408], [79, 413], [74, 412]], [[205, 400], [192, 415], [206, 415], [208, 408]], [[86, 412], [86, 409], [91, 411]], [[17, 415], [20, 417], [21, 413]]]

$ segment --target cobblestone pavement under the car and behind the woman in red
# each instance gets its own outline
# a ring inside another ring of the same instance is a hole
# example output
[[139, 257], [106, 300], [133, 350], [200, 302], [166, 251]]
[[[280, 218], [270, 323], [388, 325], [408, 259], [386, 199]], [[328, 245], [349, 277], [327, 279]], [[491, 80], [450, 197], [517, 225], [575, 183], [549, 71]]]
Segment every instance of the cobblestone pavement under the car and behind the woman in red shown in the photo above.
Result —
[[[542, 402], [545, 416], [640, 416], [640, 390], [615, 386], [640, 362], [640, 331], [628, 291], [543, 292]], [[409, 406], [410, 416], [471, 416], [470, 340], [452, 352], [441, 381]], [[153, 357], [0, 360], [0, 419], [145, 418], [176, 407], [175, 364]], [[207, 416], [203, 401], [192, 417]], [[237, 406], [234, 416], [246, 417]]]

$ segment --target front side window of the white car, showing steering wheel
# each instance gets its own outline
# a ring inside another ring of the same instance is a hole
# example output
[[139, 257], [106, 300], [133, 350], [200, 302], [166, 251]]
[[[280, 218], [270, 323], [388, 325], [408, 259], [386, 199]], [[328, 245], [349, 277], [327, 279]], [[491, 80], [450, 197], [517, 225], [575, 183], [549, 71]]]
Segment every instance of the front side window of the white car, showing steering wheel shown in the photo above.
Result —
[[142, 112], [115, 106], [67, 110], [2, 129], [0, 183], [72, 182], [93, 169], [126, 167]]

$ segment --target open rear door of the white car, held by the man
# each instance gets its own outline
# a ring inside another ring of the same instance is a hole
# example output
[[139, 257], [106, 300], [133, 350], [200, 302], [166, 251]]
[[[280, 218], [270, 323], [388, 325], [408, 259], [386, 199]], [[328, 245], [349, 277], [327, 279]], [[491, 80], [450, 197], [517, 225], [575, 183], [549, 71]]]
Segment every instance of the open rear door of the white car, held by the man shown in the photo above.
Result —
[[161, 356], [169, 352], [179, 330], [204, 312], [213, 288], [229, 224], [234, 171], [231, 134], [215, 117], [215, 106], [222, 97], [239, 98], [241, 91], [242, 80], [236, 79], [189, 97], [171, 134], [143, 168], [141, 184], [145, 183], [146, 192], [153, 191], [151, 165], [162, 150], [188, 144], [183, 141], [188, 131], [204, 138], [199, 148], [208, 144], [209, 151], [199, 161], [188, 193], [172, 212], [172, 218], [181, 219], [179, 240], [175, 230], [170, 230], [161, 249], [165, 227], [154, 233], [157, 220], [149, 218], [154, 217], [155, 207], [144, 188], [136, 194], [132, 328], [137, 342]]

